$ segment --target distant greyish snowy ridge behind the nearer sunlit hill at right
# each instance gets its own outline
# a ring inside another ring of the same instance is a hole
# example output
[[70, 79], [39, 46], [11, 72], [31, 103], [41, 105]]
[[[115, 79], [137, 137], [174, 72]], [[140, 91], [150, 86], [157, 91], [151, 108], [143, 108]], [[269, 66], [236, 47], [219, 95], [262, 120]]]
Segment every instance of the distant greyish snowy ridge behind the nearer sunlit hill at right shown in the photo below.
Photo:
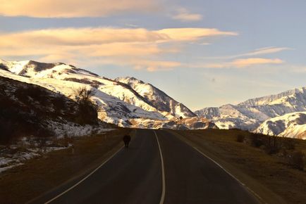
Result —
[[237, 105], [204, 108], [195, 113], [200, 117], [207, 117], [222, 129], [254, 130], [272, 117], [301, 111], [306, 111], [306, 87], [281, 94], [252, 98]]

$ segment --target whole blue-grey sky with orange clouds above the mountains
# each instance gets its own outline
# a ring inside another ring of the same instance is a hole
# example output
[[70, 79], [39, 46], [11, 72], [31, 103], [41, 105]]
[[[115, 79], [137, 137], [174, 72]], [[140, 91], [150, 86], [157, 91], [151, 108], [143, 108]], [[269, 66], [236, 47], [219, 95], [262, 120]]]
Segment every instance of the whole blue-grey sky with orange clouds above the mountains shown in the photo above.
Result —
[[191, 110], [306, 86], [304, 0], [0, 0], [0, 58], [136, 77]]

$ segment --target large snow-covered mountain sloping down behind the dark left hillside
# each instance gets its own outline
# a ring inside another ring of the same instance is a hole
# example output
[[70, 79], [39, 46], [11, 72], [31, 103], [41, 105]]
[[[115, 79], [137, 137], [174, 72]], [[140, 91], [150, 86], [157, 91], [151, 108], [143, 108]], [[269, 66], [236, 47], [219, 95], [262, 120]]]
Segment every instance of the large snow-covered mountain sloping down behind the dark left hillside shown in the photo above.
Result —
[[[141, 119], [137, 120], [140, 122], [196, 116], [163, 91], [132, 77], [113, 80], [73, 65], [32, 60], [0, 60], [0, 75], [37, 84], [72, 99], [75, 99], [75, 89], [93, 89], [93, 99], [101, 107], [99, 118], [119, 126], [132, 125], [132, 119]], [[134, 127], [137, 125], [134, 124]]]

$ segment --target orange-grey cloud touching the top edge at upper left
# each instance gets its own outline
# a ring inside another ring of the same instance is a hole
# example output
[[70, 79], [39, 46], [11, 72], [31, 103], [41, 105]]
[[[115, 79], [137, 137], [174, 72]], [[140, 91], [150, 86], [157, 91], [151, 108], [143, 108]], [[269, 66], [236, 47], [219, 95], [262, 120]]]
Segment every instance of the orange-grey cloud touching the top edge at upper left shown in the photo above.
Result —
[[122, 12], [159, 10], [155, 0], [9, 0], [0, 1], [0, 15], [35, 18], [100, 17]]

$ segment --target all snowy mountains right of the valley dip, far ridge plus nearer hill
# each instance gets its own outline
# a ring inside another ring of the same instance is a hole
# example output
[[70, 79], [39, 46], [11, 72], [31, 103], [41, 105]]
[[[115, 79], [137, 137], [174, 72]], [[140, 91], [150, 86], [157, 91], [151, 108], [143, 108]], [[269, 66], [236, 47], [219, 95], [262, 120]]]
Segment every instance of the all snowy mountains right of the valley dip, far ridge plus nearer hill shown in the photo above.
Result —
[[[211, 120], [221, 129], [238, 128], [263, 134], [306, 139], [305, 129], [299, 129], [297, 133], [297, 130], [293, 131], [292, 128], [301, 123], [305, 124], [306, 121], [291, 117], [305, 111], [306, 87], [302, 87], [280, 94], [252, 98], [237, 105], [227, 104], [219, 108], [203, 108], [195, 113], [199, 117]], [[293, 122], [293, 118], [298, 122]], [[284, 125], [288, 122], [291, 125]]]

